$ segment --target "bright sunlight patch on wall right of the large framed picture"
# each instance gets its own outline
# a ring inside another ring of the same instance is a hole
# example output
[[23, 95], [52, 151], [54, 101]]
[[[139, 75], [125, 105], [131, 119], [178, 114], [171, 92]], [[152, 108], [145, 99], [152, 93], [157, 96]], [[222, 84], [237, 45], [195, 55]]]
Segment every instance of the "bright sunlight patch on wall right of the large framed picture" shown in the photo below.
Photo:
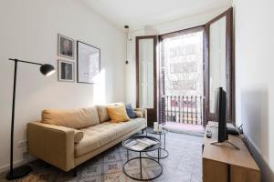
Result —
[[100, 73], [94, 77], [94, 105], [106, 103], [106, 71], [100, 70]]

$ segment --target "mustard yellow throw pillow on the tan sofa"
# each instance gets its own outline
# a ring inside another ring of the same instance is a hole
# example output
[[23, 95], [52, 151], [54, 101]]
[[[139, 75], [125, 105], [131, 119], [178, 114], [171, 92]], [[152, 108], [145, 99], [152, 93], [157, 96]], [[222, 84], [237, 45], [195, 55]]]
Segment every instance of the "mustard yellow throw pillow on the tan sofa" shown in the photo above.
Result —
[[130, 120], [125, 106], [107, 106], [108, 113], [112, 123], [125, 122]]

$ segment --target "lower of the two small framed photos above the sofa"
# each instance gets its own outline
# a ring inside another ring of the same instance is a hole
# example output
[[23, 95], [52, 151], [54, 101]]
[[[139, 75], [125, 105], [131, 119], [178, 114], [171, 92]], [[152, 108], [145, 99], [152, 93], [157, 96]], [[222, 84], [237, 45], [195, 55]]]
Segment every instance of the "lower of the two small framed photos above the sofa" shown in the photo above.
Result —
[[74, 63], [64, 60], [58, 60], [58, 80], [65, 82], [74, 82]]

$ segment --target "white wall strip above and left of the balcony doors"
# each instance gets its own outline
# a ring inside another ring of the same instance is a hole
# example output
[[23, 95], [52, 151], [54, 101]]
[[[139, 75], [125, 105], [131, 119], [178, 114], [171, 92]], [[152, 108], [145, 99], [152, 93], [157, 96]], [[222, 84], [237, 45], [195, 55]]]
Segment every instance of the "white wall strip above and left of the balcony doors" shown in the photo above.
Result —
[[166, 33], [171, 33], [178, 30], [184, 30], [187, 28], [205, 25], [206, 22], [213, 19], [217, 15], [220, 15], [226, 11], [228, 7], [223, 7], [220, 9], [212, 10], [210, 12], [205, 12], [200, 15], [185, 17], [181, 19], [174, 20], [172, 22], [167, 22], [161, 25], [151, 25], [146, 26], [142, 30], [133, 31], [129, 34], [129, 38], [132, 41], [128, 41], [128, 60], [129, 64], [126, 65], [126, 102], [132, 103], [133, 106], [136, 104], [136, 76], [135, 76], [135, 37], [142, 35], [163, 35]]

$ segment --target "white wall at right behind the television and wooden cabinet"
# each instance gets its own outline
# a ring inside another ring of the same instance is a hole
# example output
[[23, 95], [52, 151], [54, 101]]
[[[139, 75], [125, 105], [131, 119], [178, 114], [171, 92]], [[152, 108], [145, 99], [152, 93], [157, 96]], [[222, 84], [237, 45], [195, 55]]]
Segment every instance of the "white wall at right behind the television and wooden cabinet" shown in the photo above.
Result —
[[272, 0], [234, 0], [236, 117], [262, 181], [274, 181], [274, 23]]

